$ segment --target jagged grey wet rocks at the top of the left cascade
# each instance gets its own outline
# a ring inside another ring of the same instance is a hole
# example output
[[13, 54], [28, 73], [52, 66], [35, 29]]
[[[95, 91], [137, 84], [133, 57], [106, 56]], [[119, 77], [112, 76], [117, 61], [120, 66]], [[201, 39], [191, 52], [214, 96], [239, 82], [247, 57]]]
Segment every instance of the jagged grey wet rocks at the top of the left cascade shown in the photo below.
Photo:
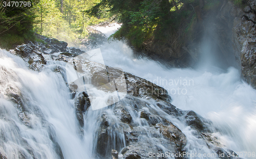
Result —
[[70, 58], [84, 52], [75, 47], [67, 47], [67, 42], [46, 38], [38, 34], [35, 35], [44, 43], [29, 41], [27, 44], [19, 45], [10, 50], [13, 55], [23, 58], [32, 70], [41, 71], [49, 60], [68, 62]]

